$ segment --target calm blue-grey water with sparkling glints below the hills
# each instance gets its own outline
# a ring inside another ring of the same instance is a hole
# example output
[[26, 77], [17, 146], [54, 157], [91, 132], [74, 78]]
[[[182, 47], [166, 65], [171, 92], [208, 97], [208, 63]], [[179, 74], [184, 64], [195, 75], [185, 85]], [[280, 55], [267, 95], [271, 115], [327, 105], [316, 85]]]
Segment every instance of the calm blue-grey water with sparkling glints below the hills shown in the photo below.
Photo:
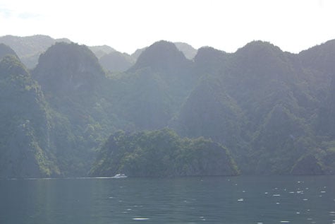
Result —
[[335, 224], [335, 177], [0, 179], [0, 223]]

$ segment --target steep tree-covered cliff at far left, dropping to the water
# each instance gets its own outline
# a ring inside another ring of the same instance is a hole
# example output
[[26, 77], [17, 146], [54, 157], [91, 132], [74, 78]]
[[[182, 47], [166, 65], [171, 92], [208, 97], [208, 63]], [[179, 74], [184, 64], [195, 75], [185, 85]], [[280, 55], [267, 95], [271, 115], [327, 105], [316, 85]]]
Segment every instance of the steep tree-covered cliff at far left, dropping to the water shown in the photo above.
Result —
[[59, 175], [42, 91], [15, 56], [0, 62], [0, 177]]

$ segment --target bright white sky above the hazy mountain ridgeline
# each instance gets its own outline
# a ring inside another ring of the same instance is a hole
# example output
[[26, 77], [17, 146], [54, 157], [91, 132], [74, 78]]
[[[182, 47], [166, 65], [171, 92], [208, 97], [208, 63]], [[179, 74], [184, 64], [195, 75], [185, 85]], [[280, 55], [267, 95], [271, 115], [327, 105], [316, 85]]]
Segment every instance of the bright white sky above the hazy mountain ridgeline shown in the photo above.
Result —
[[159, 40], [298, 53], [335, 39], [334, 0], [0, 0], [0, 36], [49, 35], [129, 54]]

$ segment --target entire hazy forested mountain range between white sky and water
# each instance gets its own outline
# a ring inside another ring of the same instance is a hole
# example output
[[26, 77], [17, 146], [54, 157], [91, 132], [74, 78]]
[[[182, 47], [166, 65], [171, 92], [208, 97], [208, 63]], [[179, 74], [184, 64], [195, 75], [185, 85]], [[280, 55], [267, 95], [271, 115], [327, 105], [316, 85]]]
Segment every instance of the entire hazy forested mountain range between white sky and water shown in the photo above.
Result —
[[64, 40], [0, 37], [0, 177], [335, 171], [334, 40], [132, 55]]

